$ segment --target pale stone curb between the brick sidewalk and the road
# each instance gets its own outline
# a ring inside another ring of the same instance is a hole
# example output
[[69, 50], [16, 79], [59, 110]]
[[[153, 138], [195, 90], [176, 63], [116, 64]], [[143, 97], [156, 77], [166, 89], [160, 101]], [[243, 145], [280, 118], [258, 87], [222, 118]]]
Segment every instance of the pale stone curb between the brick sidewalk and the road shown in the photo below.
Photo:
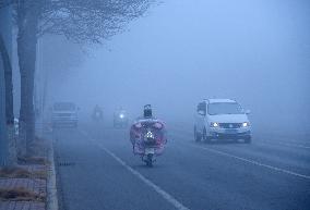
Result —
[[50, 149], [48, 152], [48, 160], [50, 162], [50, 165], [48, 169], [48, 178], [47, 178], [47, 210], [59, 210], [52, 141], [53, 140], [50, 139]]

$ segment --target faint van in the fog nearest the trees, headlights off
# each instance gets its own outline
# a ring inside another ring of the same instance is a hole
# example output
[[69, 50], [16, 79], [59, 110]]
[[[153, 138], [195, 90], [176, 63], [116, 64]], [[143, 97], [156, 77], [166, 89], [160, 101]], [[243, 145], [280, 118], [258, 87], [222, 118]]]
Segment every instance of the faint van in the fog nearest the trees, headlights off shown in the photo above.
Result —
[[78, 127], [78, 111], [79, 108], [73, 102], [56, 102], [52, 106], [52, 126], [69, 125]]

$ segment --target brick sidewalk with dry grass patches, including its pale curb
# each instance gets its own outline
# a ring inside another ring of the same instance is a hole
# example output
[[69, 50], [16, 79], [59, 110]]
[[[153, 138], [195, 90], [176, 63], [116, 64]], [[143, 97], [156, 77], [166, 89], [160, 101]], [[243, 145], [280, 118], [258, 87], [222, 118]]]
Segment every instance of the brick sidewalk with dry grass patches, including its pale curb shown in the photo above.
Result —
[[17, 165], [13, 172], [2, 170], [0, 173], [0, 210], [58, 209], [52, 139], [43, 126], [37, 128], [37, 135], [47, 138], [34, 145], [37, 147], [35, 159], [26, 160], [26, 164]]

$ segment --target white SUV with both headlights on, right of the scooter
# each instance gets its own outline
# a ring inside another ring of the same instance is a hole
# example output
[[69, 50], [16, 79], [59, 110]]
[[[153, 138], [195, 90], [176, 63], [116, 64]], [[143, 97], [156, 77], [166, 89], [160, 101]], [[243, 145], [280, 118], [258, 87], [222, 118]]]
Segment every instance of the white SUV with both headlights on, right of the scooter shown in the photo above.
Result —
[[194, 139], [243, 139], [251, 143], [250, 111], [230, 99], [205, 99], [196, 107]]

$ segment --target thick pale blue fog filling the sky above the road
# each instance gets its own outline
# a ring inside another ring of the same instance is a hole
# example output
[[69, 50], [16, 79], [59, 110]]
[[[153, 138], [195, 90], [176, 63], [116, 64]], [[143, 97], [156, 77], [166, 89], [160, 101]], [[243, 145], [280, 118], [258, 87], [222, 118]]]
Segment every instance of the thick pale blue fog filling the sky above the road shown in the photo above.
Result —
[[103, 46], [43, 40], [43, 69], [59, 65], [48, 101], [74, 101], [84, 115], [99, 104], [107, 118], [152, 103], [158, 118], [191, 124], [200, 100], [231, 98], [257, 129], [306, 132], [309, 26], [308, 0], [164, 1]]

